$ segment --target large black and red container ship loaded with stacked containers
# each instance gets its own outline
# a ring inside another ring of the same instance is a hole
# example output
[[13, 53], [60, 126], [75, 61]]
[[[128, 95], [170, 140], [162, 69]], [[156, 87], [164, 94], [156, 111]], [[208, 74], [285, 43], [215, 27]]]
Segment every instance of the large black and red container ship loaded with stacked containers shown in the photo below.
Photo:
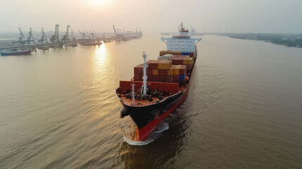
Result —
[[201, 38], [191, 38], [183, 24], [178, 31], [172, 38], [161, 37], [167, 50], [159, 52], [158, 60], [146, 61], [143, 52], [144, 63], [134, 67], [132, 80], [120, 81], [115, 89], [122, 104], [120, 118], [130, 115], [137, 126], [134, 141], [146, 140], [187, 97]]

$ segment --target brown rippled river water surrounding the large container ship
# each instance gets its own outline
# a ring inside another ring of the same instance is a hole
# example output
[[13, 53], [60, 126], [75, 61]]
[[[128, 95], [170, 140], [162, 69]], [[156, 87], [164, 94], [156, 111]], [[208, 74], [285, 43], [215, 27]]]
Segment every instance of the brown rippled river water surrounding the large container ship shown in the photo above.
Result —
[[265, 42], [204, 36], [187, 100], [149, 144], [125, 142], [114, 89], [162, 49], [0, 56], [0, 168], [302, 168], [302, 49]]

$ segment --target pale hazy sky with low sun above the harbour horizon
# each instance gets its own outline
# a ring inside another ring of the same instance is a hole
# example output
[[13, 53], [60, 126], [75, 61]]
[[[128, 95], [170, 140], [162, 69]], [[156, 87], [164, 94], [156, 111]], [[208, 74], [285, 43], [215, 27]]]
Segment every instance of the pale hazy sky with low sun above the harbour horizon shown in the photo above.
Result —
[[0, 0], [0, 32], [61, 30], [113, 32], [112, 25], [143, 32], [302, 33], [301, 0]]

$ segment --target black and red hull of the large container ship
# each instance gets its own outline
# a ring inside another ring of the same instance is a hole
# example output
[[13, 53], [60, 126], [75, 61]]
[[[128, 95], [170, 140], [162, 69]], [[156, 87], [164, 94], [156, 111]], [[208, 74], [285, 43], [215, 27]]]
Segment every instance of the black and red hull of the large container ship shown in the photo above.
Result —
[[[191, 77], [194, 75], [195, 64], [191, 70]], [[138, 137], [136, 141], [143, 142], [154, 130], [156, 125], [165, 119], [172, 111], [182, 104], [187, 98], [189, 88], [191, 86], [191, 78], [184, 91], [179, 92], [165, 99], [165, 101], [159, 104], [153, 104], [151, 106], [132, 107], [122, 103], [123, 111], [129, 112], [130, 117], [137, 125]], [[158, 113], [158, 116], [156, 115]]]

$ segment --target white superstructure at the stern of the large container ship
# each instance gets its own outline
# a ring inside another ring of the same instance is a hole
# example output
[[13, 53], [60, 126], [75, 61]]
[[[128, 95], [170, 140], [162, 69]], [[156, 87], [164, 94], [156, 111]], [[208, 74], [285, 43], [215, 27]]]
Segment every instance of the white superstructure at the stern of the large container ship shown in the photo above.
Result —
[[201, 38], [191, 38], [189, 30], [185, 30], [183, 24], [180, 24], [179, 32], [172, 38], [162, 37], [161, 40], [167, 44], [168, 51], [195, 51], [195, 44], [201, 41]]

